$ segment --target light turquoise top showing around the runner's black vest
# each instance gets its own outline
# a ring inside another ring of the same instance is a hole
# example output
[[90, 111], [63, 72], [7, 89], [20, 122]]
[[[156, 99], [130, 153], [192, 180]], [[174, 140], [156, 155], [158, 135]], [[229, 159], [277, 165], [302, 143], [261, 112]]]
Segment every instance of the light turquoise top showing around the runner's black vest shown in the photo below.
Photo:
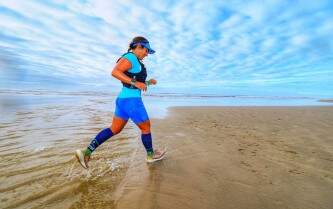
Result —
[[[131, 64], [132, 68], [128, 70], [130, 73], [138, 73], [141, 71], [141, 65], [138, 61], [138, 58], [133, 53], [127, 53], [122, 58], [127, 59]], [[123, 86], [121, 89], [118, 98], [131, 98], [131, 97], [141, 97], [140, 89], [130, 89]]]

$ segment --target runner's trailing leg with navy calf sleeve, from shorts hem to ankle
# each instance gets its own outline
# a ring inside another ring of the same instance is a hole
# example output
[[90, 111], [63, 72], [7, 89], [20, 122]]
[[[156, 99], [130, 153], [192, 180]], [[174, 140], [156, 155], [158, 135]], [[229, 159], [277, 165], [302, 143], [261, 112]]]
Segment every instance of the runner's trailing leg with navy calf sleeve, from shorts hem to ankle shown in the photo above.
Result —
[[120, 117], [113, 116], [112, 123], [109, 128], [103, 129], [99, 132], [96, 137], [91, 141], [89, 146], [86, 149], [86, 154], [91, 155], [95, 149], [104, 143], [106, 140], [111, 138], [112, 136], [121, 132], [121, 130], [125, 127], [127, 120], [124, 120]]

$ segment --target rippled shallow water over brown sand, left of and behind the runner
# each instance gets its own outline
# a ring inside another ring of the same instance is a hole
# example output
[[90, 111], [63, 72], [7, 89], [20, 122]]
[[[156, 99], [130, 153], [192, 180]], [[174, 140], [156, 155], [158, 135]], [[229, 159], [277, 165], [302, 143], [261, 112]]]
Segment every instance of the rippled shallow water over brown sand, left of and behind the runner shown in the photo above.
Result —
[[88, 171], [73, 155], [109, 125], [112, 110], [97, 98], [23, 105], [1, 120], [0, 208], [112, 208], [111, 194], [140, 146], [136, 128], [128, 124], [101, 146]]

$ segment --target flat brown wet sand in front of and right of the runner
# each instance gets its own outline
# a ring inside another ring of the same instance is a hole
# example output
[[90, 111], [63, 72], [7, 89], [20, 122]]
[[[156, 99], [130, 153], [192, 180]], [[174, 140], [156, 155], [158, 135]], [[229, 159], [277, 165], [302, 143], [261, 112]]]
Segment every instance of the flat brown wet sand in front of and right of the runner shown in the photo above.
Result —
[[152, 124], [167, 158], [136, 152], [116, 208], [333, 207], [333, 107], [181, 107]]

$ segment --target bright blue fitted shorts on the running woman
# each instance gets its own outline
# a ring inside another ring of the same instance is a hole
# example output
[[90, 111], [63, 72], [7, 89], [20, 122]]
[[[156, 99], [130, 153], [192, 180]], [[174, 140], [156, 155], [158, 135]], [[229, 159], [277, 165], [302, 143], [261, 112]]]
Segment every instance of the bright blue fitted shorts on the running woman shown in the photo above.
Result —
[[141, 97], [117, 98], [115, 116], [124, 120], [131, 119], [135, 124], [149, 120]]

